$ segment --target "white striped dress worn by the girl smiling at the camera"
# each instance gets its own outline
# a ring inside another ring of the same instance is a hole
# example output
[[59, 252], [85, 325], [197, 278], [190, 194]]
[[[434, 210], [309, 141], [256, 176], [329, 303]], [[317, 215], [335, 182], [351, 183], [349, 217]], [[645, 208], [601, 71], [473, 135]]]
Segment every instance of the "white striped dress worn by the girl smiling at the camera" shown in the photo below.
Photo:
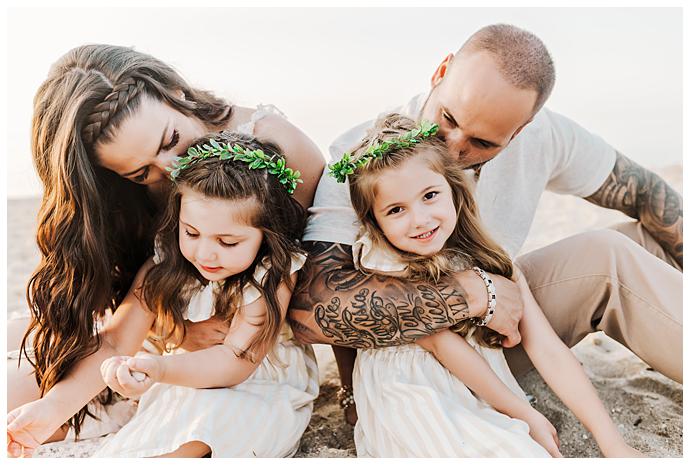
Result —
[[[402, 270], [390, 251], [360, 237], [355, 264]], [[466, 340], [517, 396], [526, 400], [501, 349]], [[467, 367], [472, 369], [472, 367]], [[417, 344], [359, 350], [353, 373], [358, 457], [550, 457], [527, 423], [504, 415], [472, 392]]]

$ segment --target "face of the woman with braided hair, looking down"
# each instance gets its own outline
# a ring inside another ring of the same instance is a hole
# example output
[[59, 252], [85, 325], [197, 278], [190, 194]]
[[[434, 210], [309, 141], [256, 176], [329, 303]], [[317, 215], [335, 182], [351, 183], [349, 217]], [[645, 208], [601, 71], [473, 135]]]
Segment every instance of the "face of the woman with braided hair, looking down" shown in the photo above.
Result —
[[96, 144], [96, 155], [101, 166], [123, 178], [156, 184], [169, 179], [166, 168], [185, 156], [192, 142], [206, 132], [197, 118], [144, 95], [112, 140]]

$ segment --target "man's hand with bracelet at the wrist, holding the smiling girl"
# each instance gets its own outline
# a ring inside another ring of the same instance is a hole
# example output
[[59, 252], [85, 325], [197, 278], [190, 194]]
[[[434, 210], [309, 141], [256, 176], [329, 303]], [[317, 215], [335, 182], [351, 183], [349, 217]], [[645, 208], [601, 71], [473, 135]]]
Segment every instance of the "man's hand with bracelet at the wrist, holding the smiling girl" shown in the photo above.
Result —
[[[518, 332], [518, 323], [522, 319], [523, 311], [520, 287], [516, 282], [503, 276], [487, 274], [496, 286], [496, 311], [487, 326], [505, 336], [503, 347], [514, 347], [521, 340]], [[489, 301], [484, 281], [474, 271], [463, 271], [459, 274], [458, 280], [467, 293], [470, 314], [483, 318]]]

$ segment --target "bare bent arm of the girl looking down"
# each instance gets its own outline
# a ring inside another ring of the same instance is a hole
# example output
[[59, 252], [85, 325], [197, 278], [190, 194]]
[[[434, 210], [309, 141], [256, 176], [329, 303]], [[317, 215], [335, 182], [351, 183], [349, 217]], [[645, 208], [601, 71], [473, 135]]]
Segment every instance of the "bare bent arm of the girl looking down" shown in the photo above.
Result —
[[[294, 281], [297, 273], [293, 273]], [[278, 288], [281, 322], [285, 318], [292, 292], [287, 284]], [[128, 361], [133, 371], [145, 373], [152, 382], [175, 384], [193, 388], [230, 387], [246, 380], [259, 366], [272, 344], [264, 344], [253, 353], [254, 362], [240, 358], [239, 350], [249, 346], [266, 318], [263, 298], [242, 307], [233, 318], [223, 344], [169, 356], [135, 357]], [[149, 381], [149, 382], [150, 382]]]

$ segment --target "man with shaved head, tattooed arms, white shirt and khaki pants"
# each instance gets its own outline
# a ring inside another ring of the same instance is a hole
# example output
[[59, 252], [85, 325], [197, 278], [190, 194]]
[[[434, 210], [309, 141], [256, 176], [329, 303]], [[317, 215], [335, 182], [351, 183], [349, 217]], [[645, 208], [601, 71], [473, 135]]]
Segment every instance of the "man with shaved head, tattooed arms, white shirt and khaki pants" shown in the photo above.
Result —
[[[516, 259], [566, 344], [572, 347], [603, 330], [682, 382], [682, 199], [600, 137], [543, 108], [554, 80], [541, 40], [514, 26], [492, 25], [443, 60], [428, 94], [398, 111], [437, 123], [458, 163], [474, 170], [487, 230]], [[331, 159], [356, 145], [371, 125], [363, 123], [336, 139]], [[639, 221], [616, 227], [620, 232], [586, 232], [516, 257], [545, 189]], [[300, 340], [384, 347], [484, 317], [487, 289], [473, 271], [437, 285], [358, 272], [350, 247], [358, 223], [347, 185], [324, 174], [310, 213], [304, 241], [311, 273], [289, 314]], [[492, 279], [498, 303], [488, 326], [506, 336], [506, 348], [514, 347], [520, 342], [522, 300], [515, 283]], [[353, 359], [334, 350], [347, 383]], [[519, 346], [506, 350], [506, 358], [516, 375], [531, 366]]]

